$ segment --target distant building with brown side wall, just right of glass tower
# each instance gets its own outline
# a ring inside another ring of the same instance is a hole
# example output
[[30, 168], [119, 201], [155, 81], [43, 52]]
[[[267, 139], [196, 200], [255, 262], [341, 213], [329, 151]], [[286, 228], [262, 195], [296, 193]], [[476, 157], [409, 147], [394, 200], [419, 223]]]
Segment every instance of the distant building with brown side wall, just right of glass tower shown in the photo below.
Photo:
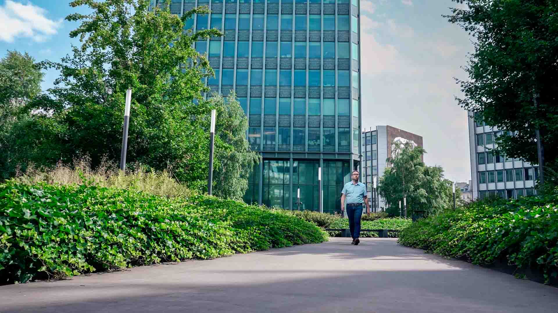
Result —
[[371, 208], [375, 208], [375, 212], [385, 209], [386, 201], [377, 194], [376, 197], [372, 197], [374, 177], [378, 182], [378, 177], [382, 177], [384, 174], [384, 169], [388, 166], [386, 159], [392, 156], [391, 144], [395, 140], [411, 141], [422, 147], [422, 136], [389, 125], [376, 126], [376, 130], [371, 129], [362, 132], [363, 171], [361, 180], [366, 184], [368, 199], [371, 201], [374, 199], [376, 202], [375, 205], [374, 202], [371, 202]]

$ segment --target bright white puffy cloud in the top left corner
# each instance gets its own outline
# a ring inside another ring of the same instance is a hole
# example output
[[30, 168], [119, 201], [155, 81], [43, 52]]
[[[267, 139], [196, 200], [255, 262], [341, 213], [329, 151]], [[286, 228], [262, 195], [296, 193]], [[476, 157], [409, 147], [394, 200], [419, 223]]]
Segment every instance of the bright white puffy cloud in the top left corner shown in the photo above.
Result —
[[0, 40], [13, 42], [17, 37], [28, 37], [33, 41], [42, 42], [55, 35], [62, 23], [47, 18], [46, 10], [27, 4], [6, 0], [0, 7]]

